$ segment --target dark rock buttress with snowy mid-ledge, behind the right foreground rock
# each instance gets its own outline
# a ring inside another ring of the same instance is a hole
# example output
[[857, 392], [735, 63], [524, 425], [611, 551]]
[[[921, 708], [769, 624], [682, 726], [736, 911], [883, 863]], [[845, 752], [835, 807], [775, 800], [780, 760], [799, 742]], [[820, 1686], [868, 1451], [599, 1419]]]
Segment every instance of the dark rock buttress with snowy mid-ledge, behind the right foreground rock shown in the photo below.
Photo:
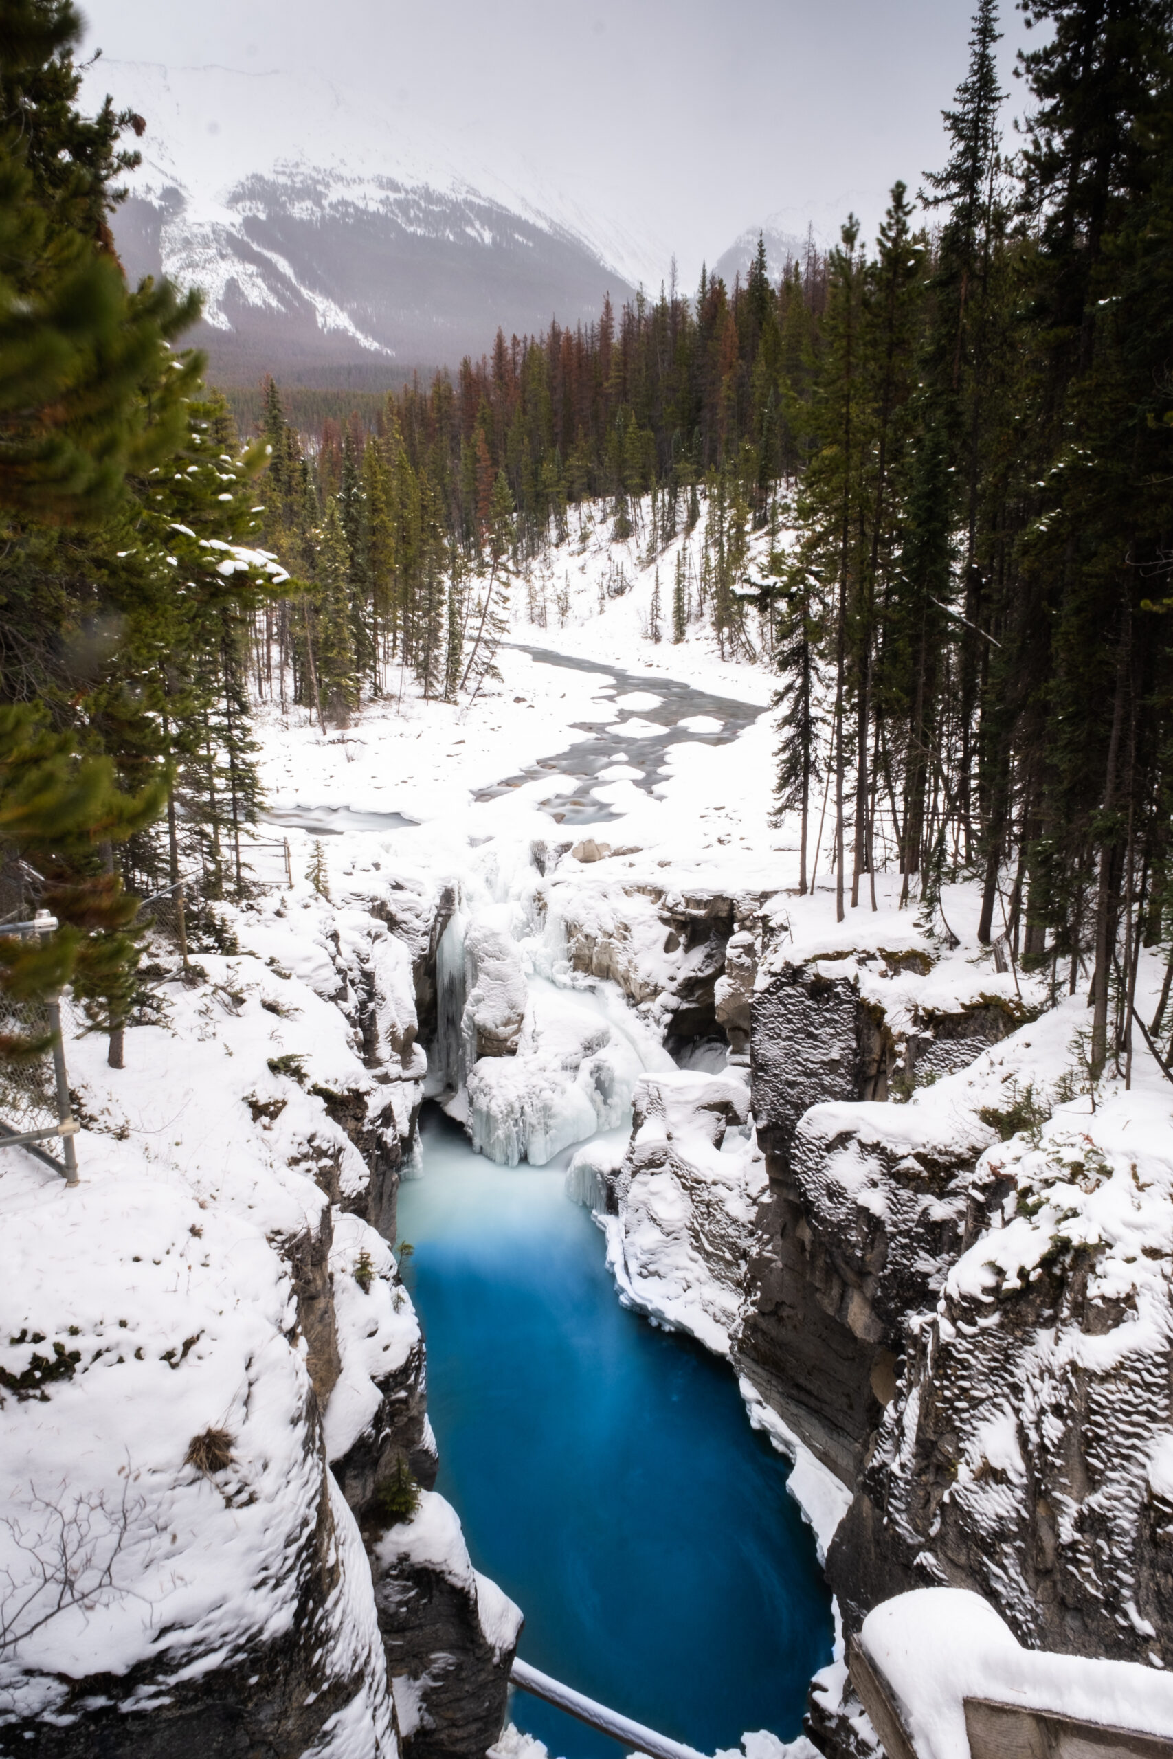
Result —
[[[944, 1018], [969, 1061], [983, 1033], [1008, 1024], [992, 1008]], [[922, 1055], [932, 1031], [922, 1025]], [[753, 1001], [753, 1110], [770, 1189], [737, 1360], [846, 1485], [893, 1395], [906, 1316], [936, 1300], [981, 1221], [967, 1179], [990, 1131], [973, 1115], [932, 1124], [879, 1103], [906, 1043], [841, 960], [783, 964]]]

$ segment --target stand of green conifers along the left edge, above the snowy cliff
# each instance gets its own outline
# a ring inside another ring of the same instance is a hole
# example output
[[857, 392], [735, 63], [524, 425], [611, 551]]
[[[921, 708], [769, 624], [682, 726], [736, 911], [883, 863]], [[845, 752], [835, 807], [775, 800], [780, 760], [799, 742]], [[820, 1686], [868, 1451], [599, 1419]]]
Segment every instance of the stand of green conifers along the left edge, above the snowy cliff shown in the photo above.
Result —
[[243, 656], [287, 580], [255, 547], [262, 447], [239, 447], [202, 359], [199, 297], [130, 292], [109, 211], [139, 118], [76, 107], [69, 0], [5, 7], [0, 37], [0, 1045], [44, 1048], [23, 1004], [72, 980], [120, 1066], [148, 1015], [139, 899], [192, 860], [236, 872], [255, 816]]

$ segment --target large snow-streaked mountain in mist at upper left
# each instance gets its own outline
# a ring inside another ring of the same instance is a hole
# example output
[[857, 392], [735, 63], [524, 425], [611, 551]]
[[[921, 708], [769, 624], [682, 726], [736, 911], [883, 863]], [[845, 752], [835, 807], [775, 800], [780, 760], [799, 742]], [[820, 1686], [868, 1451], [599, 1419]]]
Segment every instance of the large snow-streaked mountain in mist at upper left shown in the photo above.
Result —
[[438, 142], [325, 79], [225, 67], [102, 60], [86, 99], [106, 91], [146, 121], [114, 216], [127, 271], [204, 290], [195, 341], [223, 382], [455, 366], [498, 325], [575, 324], [651, 278], [531, 167], [477, 164], [459, 123]]

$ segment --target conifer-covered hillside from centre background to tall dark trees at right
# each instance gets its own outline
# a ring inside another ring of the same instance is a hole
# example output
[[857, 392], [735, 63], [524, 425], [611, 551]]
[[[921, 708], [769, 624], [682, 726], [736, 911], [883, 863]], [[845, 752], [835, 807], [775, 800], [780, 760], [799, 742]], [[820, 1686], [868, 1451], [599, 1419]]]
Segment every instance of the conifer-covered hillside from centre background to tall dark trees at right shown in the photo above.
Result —
[[[1136, 945], [1166, 932], [1169, 7], [1029, 19], [1048, 42], [1022, 63], [1020, 153], [983, 0], [944, 165], [920, 206], [893, 185], [874, 248], [849, 218], [777, 287], [761, 253], [744, 287], [498, 334], [390, 396], [378, 434], [327, 422], [313, 459], [276, 392], [266, 431], [287, 528], [336, 503], [318, 554], [348, 570], [355, 653], [403, 647], [441, 693], [441, 577], [459, 600], [464, 570], [565, 538], [587, 498], [626, 535], [651, 496], [652, 549], [716, 505], [718, 633], [735, 649], [774, 602], [779, 809], [805, 848], [830, 776], [841, 908], [881, 818], [909, 894], [980, 871], [983, 939], [1071, 987], [1090, 960], [1099, 1066], [1110, 1015], [1129, 1038]], [[739, 575], [746, 531], [781, 524], [769, 577]]]

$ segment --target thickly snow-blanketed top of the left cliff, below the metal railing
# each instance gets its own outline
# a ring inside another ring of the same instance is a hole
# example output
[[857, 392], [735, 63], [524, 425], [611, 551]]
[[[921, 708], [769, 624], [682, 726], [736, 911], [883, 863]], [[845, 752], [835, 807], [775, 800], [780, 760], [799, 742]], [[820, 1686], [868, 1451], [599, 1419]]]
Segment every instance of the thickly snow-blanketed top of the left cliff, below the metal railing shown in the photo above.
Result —
[[339, 1349], [313, 1150], [359, 1157], [266, 1057], [313, 1022], [327, 1080], [364, 1069], [308, 985], [204, 966], [125, 1071], [70, 1043], [76, 1191], [0, 1166], [5, 1740], [72, 1754], [134, 1710], [172, 1743], [230, 1726], [373, 1759], [394, 1752], [385, 1662], [318, 1414]]

